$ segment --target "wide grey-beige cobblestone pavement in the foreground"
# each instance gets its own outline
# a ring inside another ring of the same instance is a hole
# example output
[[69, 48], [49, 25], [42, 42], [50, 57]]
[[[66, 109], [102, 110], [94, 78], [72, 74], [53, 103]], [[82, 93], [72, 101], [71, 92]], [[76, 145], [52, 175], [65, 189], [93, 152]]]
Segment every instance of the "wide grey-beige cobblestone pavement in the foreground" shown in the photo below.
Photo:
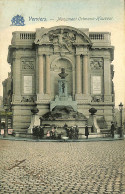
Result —
[[2, 193], [125, 193], [125, 141], [0, 140]]

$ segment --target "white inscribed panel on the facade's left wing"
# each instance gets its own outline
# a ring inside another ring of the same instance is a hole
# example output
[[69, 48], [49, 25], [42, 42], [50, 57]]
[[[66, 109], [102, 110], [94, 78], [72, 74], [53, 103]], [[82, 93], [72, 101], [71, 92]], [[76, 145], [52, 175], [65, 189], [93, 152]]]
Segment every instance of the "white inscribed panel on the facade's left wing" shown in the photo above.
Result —
[[32, 76], [24, 76], [24, 93], [32, 93]]

